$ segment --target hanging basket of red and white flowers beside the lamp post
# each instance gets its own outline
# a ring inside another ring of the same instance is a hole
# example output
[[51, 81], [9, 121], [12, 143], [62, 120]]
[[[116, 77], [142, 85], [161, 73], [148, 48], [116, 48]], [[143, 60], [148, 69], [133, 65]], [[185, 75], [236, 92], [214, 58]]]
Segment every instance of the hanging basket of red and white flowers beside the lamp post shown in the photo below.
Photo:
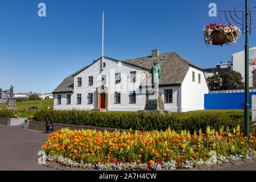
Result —
[[229, 45], [229, 43], [236, 44], [236, 40], [240, 37], [240, 28], [233, 24], [212, 24], [205, 26], [204, 29], [204, 41], [209, 44], [222, 46], [223, 44]]

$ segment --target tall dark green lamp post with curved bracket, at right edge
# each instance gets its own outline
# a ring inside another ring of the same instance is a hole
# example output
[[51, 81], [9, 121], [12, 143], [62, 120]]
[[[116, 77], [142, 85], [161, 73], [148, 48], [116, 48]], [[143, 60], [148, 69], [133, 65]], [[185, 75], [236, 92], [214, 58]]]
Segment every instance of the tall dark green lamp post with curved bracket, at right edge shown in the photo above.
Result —
[[[241, 5], [241, 4], [243, 4], [243, 2], [239, 3], [238, 5]], [[245, 114], [245, 136], [249, 137], [250, 105], [249, 105], [249, 43], [248, 43], [248, 36], [249, 36], [249, 32], [251, 34], [251, 30], [256, 28], [256, 27], [252, 27], [252, 24], [256, 23], [256, 22], [252, 22], [252, 20], [256, 17], [253, 18], [251, 16], [251, 13], [256, 11], [256, 10], [251, 10], [251, 9], [255, 8], [256, 6], [251, 6], [249, 9], [249, 0], [246, 0], [245, 1], [245, 13], [243, 10], [237, 10], [237, 6], [234, 10], [221, 10], [219, 12], [224, 12], [226, 20], [228, 20], [228, 22], [230, 23], [229, 19], [227, 18], [227, 15], [226, 15], [226, 13], [229, 13], [231, 18], [234, 20], [234, 22], [236, 22], [242, 26], [242, 28], [240, 28], [242, 30], [242, 34], [245, 33], [245, 113], [244, 114]], [[235, 20], [233, 18], [232, 13], [234, 13], [236, 15], [236, 17], [240, 20], [240, 22], [239, 22], [239, 20]], [[242, 13], [242, 17], [239, 16], [237, 13]], [[249, 15], [250, 15], [250, 23], [249, 23]], [[242, 22], [241, 22], [241, 20], [242, 20]], [[230, 24], [232, 24], [232, 23], [230, 23]], [[249, 28], [249, 24], [250, 24], [250, 28]]]

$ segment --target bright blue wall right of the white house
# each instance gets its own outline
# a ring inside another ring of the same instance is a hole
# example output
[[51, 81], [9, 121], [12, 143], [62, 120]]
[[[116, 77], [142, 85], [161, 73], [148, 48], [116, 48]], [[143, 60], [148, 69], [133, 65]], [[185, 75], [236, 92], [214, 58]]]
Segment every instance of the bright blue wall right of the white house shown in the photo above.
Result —
[[[256, 92], [249, 92], [251, 109], [251, 96]], [[245, 93], [209, 93], [204, 94], [204, 109], [244, 109]]]

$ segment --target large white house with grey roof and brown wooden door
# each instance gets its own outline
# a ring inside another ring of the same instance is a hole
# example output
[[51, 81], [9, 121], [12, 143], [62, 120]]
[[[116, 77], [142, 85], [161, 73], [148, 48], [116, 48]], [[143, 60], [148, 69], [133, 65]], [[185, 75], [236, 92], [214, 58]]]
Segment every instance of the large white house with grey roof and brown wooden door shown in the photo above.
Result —
[[144, 110], [147, 90], [153, 90], [150, 69], [162, 68], [159, 91], [164, 107], [173, 112], [203, 110], [209, 92], [204, 69], [176, 52], [152, 51], [151, 56], [115, 60], [104, 56], [68, 76], [53, 90], [55, 110]]

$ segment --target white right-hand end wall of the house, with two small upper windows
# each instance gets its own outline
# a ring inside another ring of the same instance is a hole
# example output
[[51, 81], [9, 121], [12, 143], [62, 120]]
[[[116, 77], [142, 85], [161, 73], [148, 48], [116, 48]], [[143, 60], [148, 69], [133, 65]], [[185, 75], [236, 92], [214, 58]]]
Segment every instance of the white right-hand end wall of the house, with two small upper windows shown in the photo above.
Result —
[[[192, 72], [195, 72], [195, 81], [192, 81]], [[199, 84], [198, 74], [201, 75], [201, 83]], [[189, 67], [181, 85], [181, 111], [203, 110], [204, 109], [204, 94], [208, 93], [209, 89], [204, 77], [204, 72]]]

